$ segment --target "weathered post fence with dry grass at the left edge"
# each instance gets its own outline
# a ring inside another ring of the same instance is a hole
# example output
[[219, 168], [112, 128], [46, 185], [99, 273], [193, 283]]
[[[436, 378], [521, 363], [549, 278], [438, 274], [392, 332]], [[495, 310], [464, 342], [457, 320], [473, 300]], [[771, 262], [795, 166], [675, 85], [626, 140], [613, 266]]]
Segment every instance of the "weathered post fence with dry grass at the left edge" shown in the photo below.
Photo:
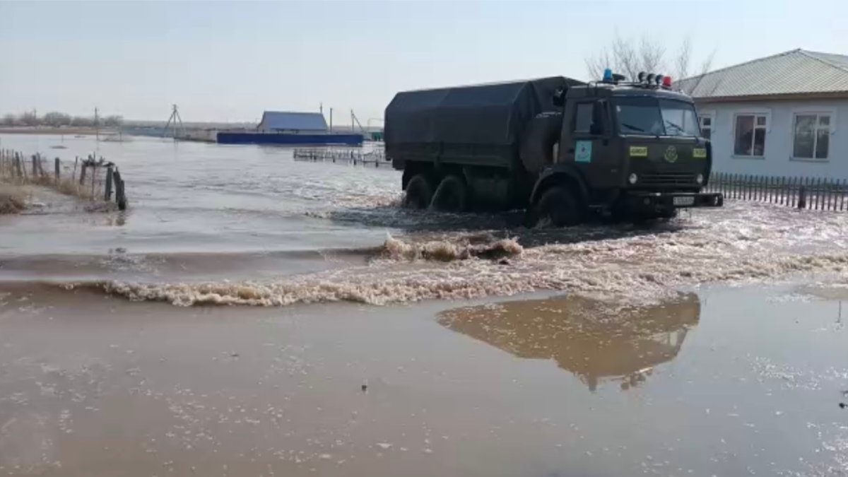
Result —
[[61, 194], [81, 199], [110, 202], [119, 210], [127, 205], [124, 180], [112, 162], [94, 155], [73, 163], [58, 157], [50, 160], [41, 154], [27, 156], [19, 151], [0, 149], [0, 179], [17, 185], [52, 188]]

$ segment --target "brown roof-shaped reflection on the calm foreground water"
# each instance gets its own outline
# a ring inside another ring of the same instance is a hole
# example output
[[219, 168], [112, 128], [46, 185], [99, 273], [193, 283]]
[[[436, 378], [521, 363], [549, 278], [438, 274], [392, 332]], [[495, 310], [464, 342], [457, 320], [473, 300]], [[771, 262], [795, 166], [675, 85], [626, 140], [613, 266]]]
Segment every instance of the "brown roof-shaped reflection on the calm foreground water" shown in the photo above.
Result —
[[438, 323], [525, 359], [552, 359], [589, 390], [604, 381], [629, 390], [671, 362], [698, 325], [698, 295], [656, 306], [613, 309], [599, 300], [561, 296], [443, 311]]

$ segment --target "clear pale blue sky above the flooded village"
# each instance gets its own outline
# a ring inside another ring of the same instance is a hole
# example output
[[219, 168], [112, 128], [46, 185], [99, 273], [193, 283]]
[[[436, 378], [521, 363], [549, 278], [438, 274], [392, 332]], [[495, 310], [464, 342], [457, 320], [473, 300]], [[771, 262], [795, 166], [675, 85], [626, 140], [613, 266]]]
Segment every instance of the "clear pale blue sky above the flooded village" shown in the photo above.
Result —
[[720, 67], [848, 54], [846, 20], [848, 0], [0, 0], [0, 113], [254, 121], [323, 103], [365, 124], [403, 89], [587, 79], [616, 31], [669, 50], [689, 35]]

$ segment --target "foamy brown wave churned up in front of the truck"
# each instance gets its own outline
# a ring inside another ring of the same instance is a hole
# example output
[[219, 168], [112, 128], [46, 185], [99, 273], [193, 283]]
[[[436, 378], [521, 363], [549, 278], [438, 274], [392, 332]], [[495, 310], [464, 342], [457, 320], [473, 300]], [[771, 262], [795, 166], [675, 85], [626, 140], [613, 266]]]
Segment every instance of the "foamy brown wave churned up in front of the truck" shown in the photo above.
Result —
[[773, 281], [803, 273], [848, 279], [848, 216], [731, 204], [652, 227], [586, 226], [388, 236], [359, 264], [294, 276], [98, 282], [130, 300], [284, 306], [375, 305], [537, 290], [652, 302], [706, 283]]

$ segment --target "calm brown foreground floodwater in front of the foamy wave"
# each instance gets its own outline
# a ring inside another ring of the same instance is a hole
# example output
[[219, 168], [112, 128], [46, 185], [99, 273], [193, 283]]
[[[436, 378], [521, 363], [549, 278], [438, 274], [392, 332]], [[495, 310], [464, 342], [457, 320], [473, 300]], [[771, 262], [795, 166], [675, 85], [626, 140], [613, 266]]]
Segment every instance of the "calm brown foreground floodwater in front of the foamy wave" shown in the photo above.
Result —
[[0, 306], [0, 474], [845, 475], [840, 303]]

